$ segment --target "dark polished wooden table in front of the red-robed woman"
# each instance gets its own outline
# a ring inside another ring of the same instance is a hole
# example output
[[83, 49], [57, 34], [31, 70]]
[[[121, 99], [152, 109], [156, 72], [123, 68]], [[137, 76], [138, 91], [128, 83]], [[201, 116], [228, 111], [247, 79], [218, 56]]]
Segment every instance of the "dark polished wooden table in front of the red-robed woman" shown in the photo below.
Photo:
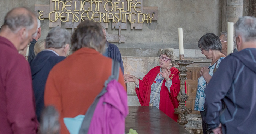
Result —
[[190, 134], [155, 106], [129, 106], [125, 133], [132, 128], [138, 134]]

